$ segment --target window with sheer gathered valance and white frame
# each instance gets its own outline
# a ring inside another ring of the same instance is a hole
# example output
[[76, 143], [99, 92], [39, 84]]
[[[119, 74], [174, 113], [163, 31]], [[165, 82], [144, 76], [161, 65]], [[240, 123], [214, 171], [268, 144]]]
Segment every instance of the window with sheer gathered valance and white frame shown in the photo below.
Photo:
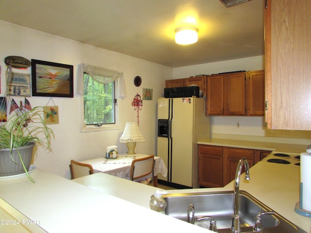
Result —
[[82, 132], [120, 129], [117, 98], [126, 97], [123, 73], [87, 64], [80, 64], [78, 73]]

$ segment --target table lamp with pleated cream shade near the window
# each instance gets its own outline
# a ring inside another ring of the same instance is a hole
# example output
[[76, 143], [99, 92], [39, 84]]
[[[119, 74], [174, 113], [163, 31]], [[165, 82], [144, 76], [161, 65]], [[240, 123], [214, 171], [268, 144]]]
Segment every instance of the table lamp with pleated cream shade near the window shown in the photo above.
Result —
[[135, 147], [137, 142], [144, 142], [145, 138], [138, 129], [137, 122], [126, 122], [124, 132], [120, 138], [121, 143], [126, 143], [127, 154], [135, 154]]

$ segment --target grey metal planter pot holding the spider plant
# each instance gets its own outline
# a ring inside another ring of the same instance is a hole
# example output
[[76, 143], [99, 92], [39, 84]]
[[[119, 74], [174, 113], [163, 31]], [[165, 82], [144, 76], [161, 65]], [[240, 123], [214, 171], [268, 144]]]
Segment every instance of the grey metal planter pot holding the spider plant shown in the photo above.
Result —
[[13, 149], [12, 151], [12, 157], [14, 161], [17, 163], [14, 163], [11, 158], [11, 152], [10, 149], [1, 149], [0, 150], [0, 177], [3, 176], [13, 176], [25, 173], [24, 167], [22, 163], [20, 162], [17, 150], [19, 151], [22, 160], [24, 162], [24, 165], [26, 166], [27, 170], [29, 170], [31, 159], [33, 156], [33, 149], [35, 147], [35, 143], [31, 142], [25, 147], [19, 147], [17, 149]]

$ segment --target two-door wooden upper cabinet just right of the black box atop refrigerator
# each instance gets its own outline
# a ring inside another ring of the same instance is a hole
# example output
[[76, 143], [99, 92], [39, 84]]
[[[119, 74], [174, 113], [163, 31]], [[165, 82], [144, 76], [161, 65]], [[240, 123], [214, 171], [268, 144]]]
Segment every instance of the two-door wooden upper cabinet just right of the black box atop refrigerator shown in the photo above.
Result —
[[245, 116], [245, 72], [207, 77], [207, 115]]

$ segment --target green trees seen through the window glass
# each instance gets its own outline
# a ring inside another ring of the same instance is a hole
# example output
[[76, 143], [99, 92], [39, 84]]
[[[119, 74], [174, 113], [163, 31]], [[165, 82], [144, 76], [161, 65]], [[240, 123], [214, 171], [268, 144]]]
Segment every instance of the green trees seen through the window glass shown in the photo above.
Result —
[[102, 84], [84, 74], [84, 120], [86, 125], [115, 123], [115, 82]]

